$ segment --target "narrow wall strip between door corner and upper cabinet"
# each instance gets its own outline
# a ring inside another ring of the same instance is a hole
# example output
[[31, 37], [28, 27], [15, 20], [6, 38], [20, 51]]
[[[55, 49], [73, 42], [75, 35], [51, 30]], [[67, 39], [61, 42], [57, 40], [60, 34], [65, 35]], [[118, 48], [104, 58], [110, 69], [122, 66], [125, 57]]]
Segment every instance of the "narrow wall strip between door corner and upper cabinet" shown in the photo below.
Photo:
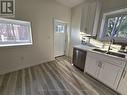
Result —
[[69, 56], [72, 57], [73, 46], [80, 42], [81, 4], [71, 9], [71, 43]]

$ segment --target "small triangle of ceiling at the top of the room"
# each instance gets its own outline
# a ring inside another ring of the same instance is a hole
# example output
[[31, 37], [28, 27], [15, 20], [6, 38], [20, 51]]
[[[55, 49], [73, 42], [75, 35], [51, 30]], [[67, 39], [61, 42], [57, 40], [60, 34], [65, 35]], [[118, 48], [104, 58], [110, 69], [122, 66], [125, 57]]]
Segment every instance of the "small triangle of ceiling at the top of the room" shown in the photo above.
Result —
[[85, 0], [56, 0], [56, 1], [72, 8], [72, 7], [82, 3]]

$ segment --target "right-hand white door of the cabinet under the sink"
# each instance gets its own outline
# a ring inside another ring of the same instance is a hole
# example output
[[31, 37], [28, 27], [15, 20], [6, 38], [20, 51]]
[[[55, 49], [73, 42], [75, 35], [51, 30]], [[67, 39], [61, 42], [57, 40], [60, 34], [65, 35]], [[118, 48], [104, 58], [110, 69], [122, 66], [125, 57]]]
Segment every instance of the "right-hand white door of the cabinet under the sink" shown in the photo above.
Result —
[[112, 63], [102, 61], [102, 67], [100, 69], [98, 79], [112, 89], [116, 90], [121, 74], [122, 69], [120, 67], [115, 66]]

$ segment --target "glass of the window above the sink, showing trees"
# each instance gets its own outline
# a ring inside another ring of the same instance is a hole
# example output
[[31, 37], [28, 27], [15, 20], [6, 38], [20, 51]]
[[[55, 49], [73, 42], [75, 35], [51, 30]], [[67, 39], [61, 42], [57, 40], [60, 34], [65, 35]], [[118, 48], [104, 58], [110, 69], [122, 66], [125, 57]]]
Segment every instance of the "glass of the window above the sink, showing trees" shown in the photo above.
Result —
[[106, 26], [106, 37], [127, 37], [127, 15], [109, 17]]

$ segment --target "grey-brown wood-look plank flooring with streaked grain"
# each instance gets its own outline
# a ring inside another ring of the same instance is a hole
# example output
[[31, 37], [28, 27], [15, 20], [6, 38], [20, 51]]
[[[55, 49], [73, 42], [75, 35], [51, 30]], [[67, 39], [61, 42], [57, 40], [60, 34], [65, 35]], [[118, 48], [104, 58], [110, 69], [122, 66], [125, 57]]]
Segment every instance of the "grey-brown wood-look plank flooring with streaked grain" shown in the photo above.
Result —
[[0, 76], [0, 95], [117, 95], [65, 57]]

